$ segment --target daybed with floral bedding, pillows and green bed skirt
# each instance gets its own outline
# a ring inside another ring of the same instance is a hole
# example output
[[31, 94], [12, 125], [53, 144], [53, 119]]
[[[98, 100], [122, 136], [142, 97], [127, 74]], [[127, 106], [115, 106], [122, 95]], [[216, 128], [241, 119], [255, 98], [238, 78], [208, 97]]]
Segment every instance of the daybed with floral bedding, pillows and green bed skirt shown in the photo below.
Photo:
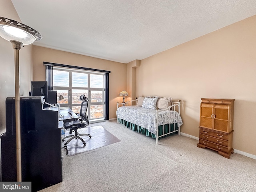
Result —
[[149, 96], [136, 98], [125, 103], [117, 102], [117, 123], [131, 130], [156, 138], [178, 133], [183, 124], [180, 116], [180, 100]]

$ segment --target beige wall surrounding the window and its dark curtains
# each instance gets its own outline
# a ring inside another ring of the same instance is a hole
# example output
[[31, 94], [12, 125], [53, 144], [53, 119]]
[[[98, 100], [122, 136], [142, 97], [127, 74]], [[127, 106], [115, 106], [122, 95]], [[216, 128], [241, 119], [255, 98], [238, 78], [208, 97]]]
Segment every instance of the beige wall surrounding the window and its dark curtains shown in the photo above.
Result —
[[110, 71], [109, 118], [116, 118], [116, 102], [122, 102], [119, 93], [126, 89], [126, 64], [33, 46], [34, 81], [45, 81], [44, 61]]

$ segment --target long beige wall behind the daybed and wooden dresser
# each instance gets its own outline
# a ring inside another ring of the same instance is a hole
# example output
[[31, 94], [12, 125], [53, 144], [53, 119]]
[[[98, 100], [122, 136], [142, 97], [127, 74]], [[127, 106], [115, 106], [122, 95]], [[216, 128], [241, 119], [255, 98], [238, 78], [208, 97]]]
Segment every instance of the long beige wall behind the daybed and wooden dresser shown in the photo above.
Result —
[[236, 99], [233, 148], [256, 155], [256, 16], [141, 60], [136, 96], [182, 100], [181, 132], [199, 137], [200, 98]]

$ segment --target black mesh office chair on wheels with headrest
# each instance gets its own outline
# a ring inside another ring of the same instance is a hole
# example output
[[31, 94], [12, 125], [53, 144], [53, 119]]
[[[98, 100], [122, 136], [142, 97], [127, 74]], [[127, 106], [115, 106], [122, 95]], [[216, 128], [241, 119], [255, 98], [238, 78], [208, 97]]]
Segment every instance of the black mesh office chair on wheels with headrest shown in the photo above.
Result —
[[83, 140], [81, 136], [89, 136], [90, 138], [92, 137], [90, 134], [78, 134], [77, 130], [80, 128], [84, 128], [89, 125], [89, 120], [88, 116], [86, 114], [87, 108], [88, 108], [88, 98], [83, 95], [80, 96], [80, 100], [82, 100], [81, 108], [80, 108], [80, 113], [78, 115], [78, 119], [74, 121], [69, 121], [69, 122], [64, 122], [63, 128], [64, 129], [70, 129], [70, 134], [72, 132], [75, 132], [74, 135], [68, 135], [64, 138], [62, 138], [62, 141], [64, 142], [66, 138], [69, 138], [65, 143], [64, 143], [64, 148], [67, 147], [67, 144], [73, 140], [73, 139], [79, 139], [80, 141], [83, 142], [84, 145], [86, 145], [86, 142]]

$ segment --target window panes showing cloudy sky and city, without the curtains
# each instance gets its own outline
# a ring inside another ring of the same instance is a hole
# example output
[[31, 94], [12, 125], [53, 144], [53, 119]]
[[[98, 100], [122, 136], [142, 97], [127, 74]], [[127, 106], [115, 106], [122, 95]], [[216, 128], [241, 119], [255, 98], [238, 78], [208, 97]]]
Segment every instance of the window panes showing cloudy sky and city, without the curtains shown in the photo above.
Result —
[[104, 118], [104, 74], [79, 73], [53, 70], [53, 87], [57, 98], [62, 94], [64, 100], [58, 100], [60, 106], [69, 106], [74, 113], [80, 112], [85, 95], [88, 102], [88, 118]]

